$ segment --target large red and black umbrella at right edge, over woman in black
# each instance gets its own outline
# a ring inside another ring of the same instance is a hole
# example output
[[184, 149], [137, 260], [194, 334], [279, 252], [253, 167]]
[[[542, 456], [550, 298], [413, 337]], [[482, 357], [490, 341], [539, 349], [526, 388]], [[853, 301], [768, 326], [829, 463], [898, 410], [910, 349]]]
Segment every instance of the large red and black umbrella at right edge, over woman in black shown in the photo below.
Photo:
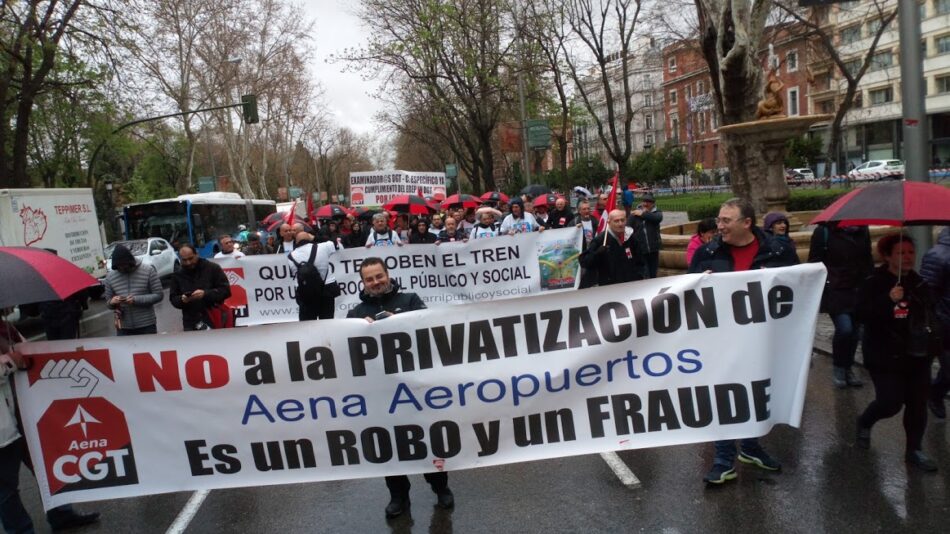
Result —
[[811, 223], [908, 226], [950, 222], [950, 188], [926, 182], [886, 182], [855, 189]]

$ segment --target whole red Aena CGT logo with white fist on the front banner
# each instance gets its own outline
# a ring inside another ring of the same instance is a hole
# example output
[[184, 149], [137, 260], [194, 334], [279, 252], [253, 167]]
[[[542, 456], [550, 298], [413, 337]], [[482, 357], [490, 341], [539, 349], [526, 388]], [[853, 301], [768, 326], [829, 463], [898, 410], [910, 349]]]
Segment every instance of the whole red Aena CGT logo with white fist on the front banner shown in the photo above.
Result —
[[35, 354], [33, 360], [30, 389], [58, 397], [37, 423], [50, 494], [138, 484], [125, 414], [92, 396], [101, 381], [115, 381], [109, 351]]

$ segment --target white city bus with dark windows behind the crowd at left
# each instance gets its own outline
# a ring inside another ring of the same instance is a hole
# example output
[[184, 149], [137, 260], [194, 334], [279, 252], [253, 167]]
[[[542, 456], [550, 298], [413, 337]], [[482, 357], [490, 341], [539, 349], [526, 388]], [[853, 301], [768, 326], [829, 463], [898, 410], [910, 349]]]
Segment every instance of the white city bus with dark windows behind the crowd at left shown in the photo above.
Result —
[[245, 200], [237, 193], [179, 195], [125, 206], [125, 238], [162, 237], [176, 250], [191, 243], [202, 258], [211, 258], [219, 250], [219, 236], [237, 237], [240, 225], [256, 230], [260, 221], [276, 211], [273, 200]]

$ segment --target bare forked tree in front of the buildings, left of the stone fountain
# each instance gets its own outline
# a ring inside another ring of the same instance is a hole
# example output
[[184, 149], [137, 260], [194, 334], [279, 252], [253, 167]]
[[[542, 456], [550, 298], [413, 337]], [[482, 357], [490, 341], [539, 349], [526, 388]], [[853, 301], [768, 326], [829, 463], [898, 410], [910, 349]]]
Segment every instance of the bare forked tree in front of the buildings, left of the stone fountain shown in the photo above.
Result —
[[[598, 137], [619, 169], [627, 167], [633, 153], [631, 125], [637, 110], [632, 99], [636, 81], [631, 79], [631, 68], [635, 61], [643, 61], [634, 50], [640, 8], [640, 0], [571, 0], [567, 4], [567, 23], [586, 55], [593, 59], [589, 68], [596, 79], [583, 79], [588, 65], [572, 54], [565, 57], [568, 72], [597, 126]], [[597, 113], [601, 101], [606, 117]]]

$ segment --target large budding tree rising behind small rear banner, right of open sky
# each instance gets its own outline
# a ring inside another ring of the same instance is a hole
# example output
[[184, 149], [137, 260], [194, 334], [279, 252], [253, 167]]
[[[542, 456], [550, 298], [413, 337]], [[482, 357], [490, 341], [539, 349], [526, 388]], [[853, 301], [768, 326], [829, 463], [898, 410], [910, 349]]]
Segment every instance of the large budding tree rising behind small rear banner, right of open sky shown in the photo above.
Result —
[[495, 188], [493, 135], [513, 43], [504, 8], [503, 0], [362, 0], [369, 42], [343, 57], [381, 73], [382, 92], [426, 101], [461, 145], [454, 151], [464, 147], [456, 155], [470, 161], [469, 178], [479, 189]]

